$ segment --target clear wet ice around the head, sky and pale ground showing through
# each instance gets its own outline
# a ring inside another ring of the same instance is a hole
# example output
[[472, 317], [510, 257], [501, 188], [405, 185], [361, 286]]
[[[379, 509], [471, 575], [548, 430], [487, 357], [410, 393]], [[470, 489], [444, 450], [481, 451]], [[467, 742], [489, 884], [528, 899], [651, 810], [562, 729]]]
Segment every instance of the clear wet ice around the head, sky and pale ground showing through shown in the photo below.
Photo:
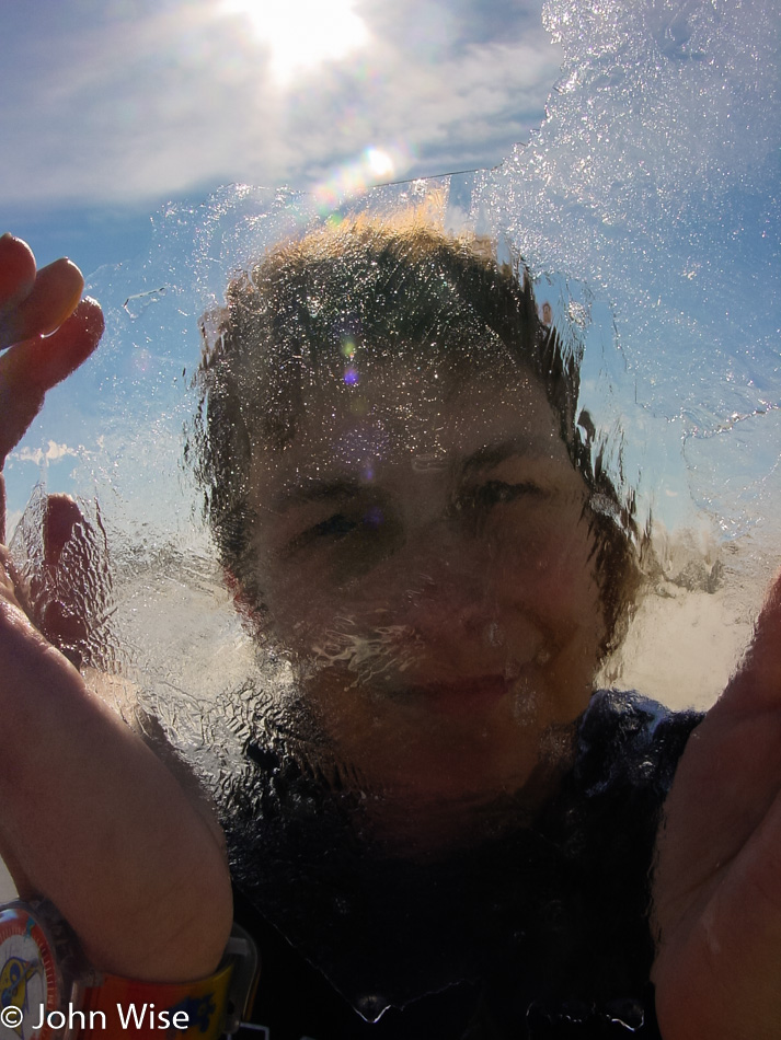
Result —
[[[376, 189], [345, 208], [429, 199], [447, 229], [489, 232], [531, 265], [582, 360], [594, 450], [627, 497], [638, 490], [641, 522], [657, 519], [664, 594], [608, 675], [705, 701], [734, 667], [781, 536], [779, 12], [551, 0], [545, 18], [566, 59], [528, 145], [474, 180]], [[50, 490], [100, 500], [113, 576], [100, 668], [128, 677], [150, 738], [161, 726], [218, 801], [252, 820], [297, 797], [274, 772], [296, 691], [286, 660], [253, 645], [216, 564], [183, 462], [192, 380], [199, 322], [229, 275], [325, 217], [312, 198], [236, 186], [156, 215], [148, 256], [92, 277], [105, 342], [9, 465], [16, 516], [38, 471]], [[24, 529], [16, 548], [35, 558]], [[256, 781], [266, 767], [271, 790]]]

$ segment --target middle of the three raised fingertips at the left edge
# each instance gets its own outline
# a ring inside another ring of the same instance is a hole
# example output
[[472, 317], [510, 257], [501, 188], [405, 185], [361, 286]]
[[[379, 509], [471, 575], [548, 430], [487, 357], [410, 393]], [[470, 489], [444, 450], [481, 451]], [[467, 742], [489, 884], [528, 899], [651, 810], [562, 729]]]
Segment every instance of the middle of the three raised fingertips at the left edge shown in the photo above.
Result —
[[72, 314], [83, 289], [82, 274], [69, 259], [42, 267], [30, 292], [0, 319], [0, 347], [48, 336]]

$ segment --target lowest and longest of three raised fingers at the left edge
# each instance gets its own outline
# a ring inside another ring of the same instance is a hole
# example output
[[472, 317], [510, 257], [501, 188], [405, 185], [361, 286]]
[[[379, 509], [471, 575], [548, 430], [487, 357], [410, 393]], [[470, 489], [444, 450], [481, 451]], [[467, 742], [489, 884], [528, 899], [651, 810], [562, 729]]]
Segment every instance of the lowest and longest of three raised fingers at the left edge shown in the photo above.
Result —
[[0, 465], [41, 411], [46, 391], [92, 354], [103, 327], [100, 305], [82, 300], [53, 336], [18, 343], [0, 357]]

